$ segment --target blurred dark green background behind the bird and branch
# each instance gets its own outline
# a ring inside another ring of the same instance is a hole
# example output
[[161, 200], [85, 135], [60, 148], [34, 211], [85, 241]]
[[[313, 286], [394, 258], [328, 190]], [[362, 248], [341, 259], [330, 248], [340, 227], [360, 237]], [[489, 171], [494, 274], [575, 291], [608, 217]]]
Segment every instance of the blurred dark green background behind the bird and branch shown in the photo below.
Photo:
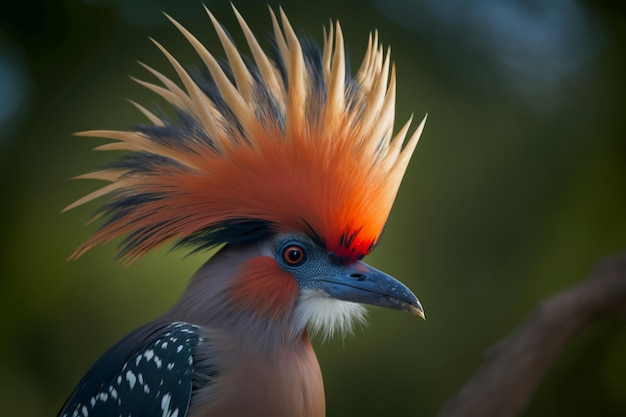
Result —
[[[243, 45], [227, 1], [207, 6]], [[277, 2], [271, 1], [272, 6]], [[263, 38], [263, 2], [235, 1]], [[393, 48], [399, 123], [429, 120], [385, 237], [368, 261], [406, 282], [428, 319], [372, 310], [316, 342], [329, 416], [432, 416], [535, 304], [626, 248], [626, 7], [621, 1], [285, 0], [321, 39], [343, 25], [354, 67], [370, 30]], [[199, 1], [0, 2], [0, 414], [50, 416], [93, 361], [164, 312], [209, 254], [167, 249], [129, 268], [115, 245], [67, 262], [96, 205], [60, 214], [110, 161], [97, 139], [156, 97], [140, 60], [171, 74], [152, 36], [199, 59], [161, 15], [221, 55]], [[626, 415], [626, 328], [577, 337], [528, 416]]]

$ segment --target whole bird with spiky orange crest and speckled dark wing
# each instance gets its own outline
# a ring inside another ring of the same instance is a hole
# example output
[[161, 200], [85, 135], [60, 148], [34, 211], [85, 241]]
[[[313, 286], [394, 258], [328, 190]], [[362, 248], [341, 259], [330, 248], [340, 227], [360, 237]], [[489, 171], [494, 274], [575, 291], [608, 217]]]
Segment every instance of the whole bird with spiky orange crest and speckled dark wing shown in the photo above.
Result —
[[266, 52], [233, 6], [242, 53], [204, 8], [225, 58], [165, 14], [202, 65], [152, 40], [177, 80], [143, 63], [154, 81], [134, 80], [171, 111], [131, 101], [147, 122], [78, 133], [124, 152], [77, 177], [106, 185], [65, 210], [106, 198], [70, 259], [118, 238], [127, 264], [163, 245], [215, 251], [169, 310], [95, 362], [60, 417], [322, 417], [313, 334], [349, 333], [364, 305], [424, 318], [406, 285], [363, 261], [426, 121], [394, 133], [396, 70], [378, 33], [353, 75], [338, 21], [318, 46], [270, 8]]

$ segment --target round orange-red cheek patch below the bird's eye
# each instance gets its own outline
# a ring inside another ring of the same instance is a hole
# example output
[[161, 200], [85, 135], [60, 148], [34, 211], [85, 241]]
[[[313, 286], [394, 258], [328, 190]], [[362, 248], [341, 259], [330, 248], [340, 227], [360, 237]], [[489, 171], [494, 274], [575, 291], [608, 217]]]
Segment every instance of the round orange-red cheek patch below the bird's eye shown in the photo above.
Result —
[[291, 311], [298, 297], [298, 283], [268, 256], [246, 262], [232, 290], [232, 301], [255, 314], [278, 318]]

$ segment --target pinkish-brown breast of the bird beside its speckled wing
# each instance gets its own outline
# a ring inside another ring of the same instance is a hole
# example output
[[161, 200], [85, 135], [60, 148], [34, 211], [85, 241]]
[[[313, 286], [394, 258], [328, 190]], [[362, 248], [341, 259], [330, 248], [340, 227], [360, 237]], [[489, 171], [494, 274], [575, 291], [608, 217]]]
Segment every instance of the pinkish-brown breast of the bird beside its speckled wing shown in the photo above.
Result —
[[304, 334], [273, 352], [231, 340], [210, 355], [222, 365], [214, 383], [196, 391], [192, 417], [323, 417], [324, 388], [317, 358]]

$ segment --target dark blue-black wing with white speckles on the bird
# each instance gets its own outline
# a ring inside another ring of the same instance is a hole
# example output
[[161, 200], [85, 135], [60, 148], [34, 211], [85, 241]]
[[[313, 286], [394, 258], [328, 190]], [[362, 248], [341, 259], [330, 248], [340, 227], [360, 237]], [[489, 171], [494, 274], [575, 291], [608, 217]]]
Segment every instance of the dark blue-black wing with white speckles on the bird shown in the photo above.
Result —
[[58, 417], [186, 416], [202, 341], [201, 330], [189, 323], [138, 328], [91, 367]]

